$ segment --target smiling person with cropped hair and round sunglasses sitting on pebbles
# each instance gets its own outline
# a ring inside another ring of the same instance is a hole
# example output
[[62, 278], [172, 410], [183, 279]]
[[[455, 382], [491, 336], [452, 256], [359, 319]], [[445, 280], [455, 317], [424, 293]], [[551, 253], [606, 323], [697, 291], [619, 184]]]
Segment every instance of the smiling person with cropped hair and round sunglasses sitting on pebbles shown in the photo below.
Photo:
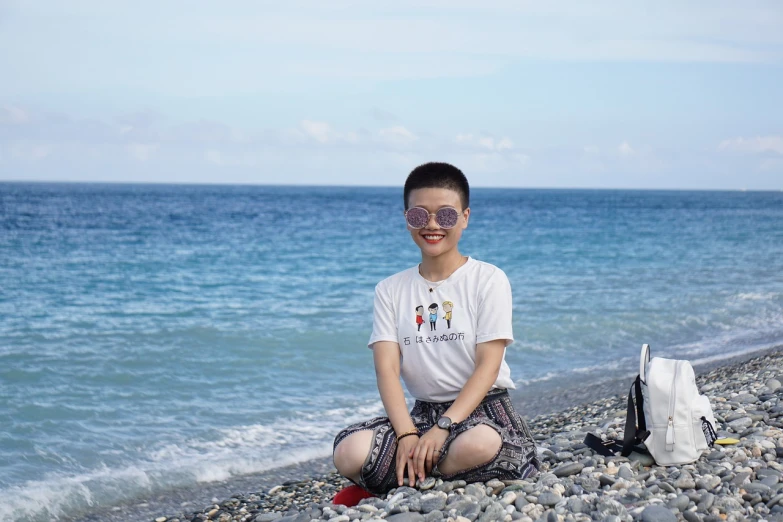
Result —
[[[508, 278], [458, 249], [469, 195], [464, 174], [447, 163], [421, 165], [405, 182], [405, 219], [421, 263], [378, 283], [369, 340], [387, 417], [353, 424], [334, 441], [338, 472], [373, 494], [406, 478], [410, 486], [427, 475], [521, 479], [540, 467], [507, 392], [514, 388], [505, 362], [514, 338]], [[449, 303], [447, 333], [419, 330], [418, 311], [431, 302]], [[410, 412], [400, 377], [416, 399]], [[334, 502], [347, 504], [340, 495]]]

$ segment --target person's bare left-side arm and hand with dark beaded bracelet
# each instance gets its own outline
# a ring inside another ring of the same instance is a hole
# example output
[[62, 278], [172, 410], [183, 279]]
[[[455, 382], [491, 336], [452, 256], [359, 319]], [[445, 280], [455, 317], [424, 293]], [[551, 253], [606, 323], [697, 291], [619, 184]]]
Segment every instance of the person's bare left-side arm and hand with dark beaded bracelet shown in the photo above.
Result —
[[[416, 430], [408, 405], [405, 403], [405, 392], [400, 382], [400, 345], [391, 341], [378, 341], [373, 344], [373, 361], [375, 362], [375, 378], [378, 382], [378, 392], [381, 394], [386, 415], [394, 428], [395, 436]], [[413, 450], [419, 442], [418, 435], [408, 435], [397, 444], [397, 485], [405, 481], [405, 469], [408, 469], [409, 484], [416, 484], [416, 472], [413, 463]]]

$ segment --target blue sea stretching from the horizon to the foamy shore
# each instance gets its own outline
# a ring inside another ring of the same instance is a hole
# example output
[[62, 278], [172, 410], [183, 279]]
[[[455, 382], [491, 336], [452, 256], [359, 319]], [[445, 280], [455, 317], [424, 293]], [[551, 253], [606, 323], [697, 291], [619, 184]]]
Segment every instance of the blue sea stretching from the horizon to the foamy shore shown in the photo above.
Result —
[[[330, 453], [382, 411], [374, 285], [401, 190], [0, 183], [0, 520]], [[519, 387], [783, 343], [783, 193], [476, 189]]]

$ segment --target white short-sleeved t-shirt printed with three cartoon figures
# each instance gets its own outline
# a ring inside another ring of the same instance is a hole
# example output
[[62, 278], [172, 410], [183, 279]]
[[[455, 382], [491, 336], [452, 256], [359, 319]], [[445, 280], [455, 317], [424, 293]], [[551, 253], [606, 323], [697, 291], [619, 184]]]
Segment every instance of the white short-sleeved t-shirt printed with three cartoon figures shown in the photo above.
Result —
[[[457, 398], [476, 368], [478, 343], [514, 341], [506, 274], [472, 258], [440, 283], [424, 279], [418, 266], [384, 279], [375, 287], [374, 308], [368, 345], [398, 343], [402, 380], [427, 402]], [[503, 356], [493, 388], [514, 388]]]

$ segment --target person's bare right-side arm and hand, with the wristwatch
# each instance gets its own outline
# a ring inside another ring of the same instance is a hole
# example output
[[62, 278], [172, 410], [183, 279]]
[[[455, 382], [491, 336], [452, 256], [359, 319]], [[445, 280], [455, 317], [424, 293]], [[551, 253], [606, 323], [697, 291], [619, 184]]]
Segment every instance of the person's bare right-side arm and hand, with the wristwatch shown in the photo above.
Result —
[[[478, 407], [498, 378], [505, 350], [505, 339], [494, 339], [476, 345], [476, 368], [452, 405], [444, 412], [445, 417], [454, 423], [462, 422]], [[448, 435], [448, 430], [436, 425], [421, 437], [413, 452], [419, 479], [424, 480], [425, 473], [428, 473], [438, 460], [435, 452], [443, 447]]]

